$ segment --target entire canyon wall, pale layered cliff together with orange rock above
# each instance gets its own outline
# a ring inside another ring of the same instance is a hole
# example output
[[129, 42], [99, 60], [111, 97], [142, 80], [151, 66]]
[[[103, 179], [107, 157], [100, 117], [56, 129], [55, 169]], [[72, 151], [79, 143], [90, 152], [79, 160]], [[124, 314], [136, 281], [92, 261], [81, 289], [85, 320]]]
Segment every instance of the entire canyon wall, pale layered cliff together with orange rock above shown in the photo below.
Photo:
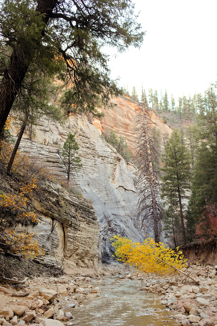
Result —
[[[102, 267], [114, 271], [114, 249], [110, 242], [113, 234], [139, 242], [144, 240], [144, 233], [136, 222], [138, 198], [133, 182], [136, 168], [101, 136], [106, 128], [113, 129], [117, 135], [127, 137], [132, 147], [136, 105], [120, 97], [114, 99], [114, 103], [117, 104], [115, 108], [106, 110], [102, 122], [95, 122], [96, 127], [84, 116], [70, 113], [62, 126], [46, 119], [40, 121], [34, 128], [33, 141], [24, 135], [20, 143], [22, 151], [45, 162], [57, 179], [66, 180], [59, 146], [63, 145], [69, 131], [76, 132], [82, 169], [71, 175], [70, 184], [91, 200], [95, 213], [88, 211], [87, 202], [82, 203], [73, 193], [58, 193], [56, 185], [52, 184], [44, 190], [44, 202], [35, 200], [33, 203], [41, 220], [34, 231], [46, 251], [42, 259], [52, 263], [56, 258], [59, 261], [64, 258], [68, 273], [76, 268], [84, 273], [91, 268], [102, 274]], [[162, 139], [168, 138], [171, 129], [154, 113], [151, 116], [154, 124], [160, 127]], [[59, 208], [53, 204], [58, 202], [58, 196], [67, 203], [68, 217], [63, 221]], [[32, 231], [31, 227], [28, 231]], [[116, 263], [118, 269], [120, 271], [121, 267]]]

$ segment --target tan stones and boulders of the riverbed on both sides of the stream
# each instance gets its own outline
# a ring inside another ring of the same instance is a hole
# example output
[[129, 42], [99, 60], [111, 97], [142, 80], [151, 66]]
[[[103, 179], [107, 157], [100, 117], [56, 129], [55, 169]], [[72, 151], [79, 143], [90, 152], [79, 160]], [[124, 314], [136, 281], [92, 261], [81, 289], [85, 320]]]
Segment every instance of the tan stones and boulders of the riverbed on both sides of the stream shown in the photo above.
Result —
[[[174, 322], [217, 326], [217, 266], [189, 265], [185, 273], [196, 278], [198, 284], [182, 275], [166, 278], [135, 273], [118, 275], [113, 285], [137, 280], [141, 282], [140, 291], [157, 294], [159, 303], [170, 308]], [[101, 285], [105, 283], [106, 277], [94, 279], [91, 275], [32, 277], [22, 284], [2, 282], [0, 325], [73, 325], [73, 311], [82, 309], [83, 299], [102, 296]]]

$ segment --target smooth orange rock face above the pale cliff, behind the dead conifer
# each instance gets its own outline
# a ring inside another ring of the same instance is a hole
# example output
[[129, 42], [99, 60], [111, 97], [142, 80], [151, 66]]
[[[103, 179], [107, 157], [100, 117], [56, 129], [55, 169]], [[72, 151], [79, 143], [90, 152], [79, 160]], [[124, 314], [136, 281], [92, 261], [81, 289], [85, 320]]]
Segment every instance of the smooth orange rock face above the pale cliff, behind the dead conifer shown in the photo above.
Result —
[[[138, 111], [138, 105], [124, 98], [115, 97], [112, 99], [115, 104], [113, 109], [102, 110], [105, 116], [102, 121], [94, 120], [93, 125], [101, 132], [113, 130], [117, 136], [126, 137], [126, 141], [131, 150], [134, 147], [135, 139], [135, 118]], [[170, 137], [172, 129], [165, 125], [161, 118], [157, 117], [153, 111], [149, 111], [153, 126], [160, 130], [162, 146]]]

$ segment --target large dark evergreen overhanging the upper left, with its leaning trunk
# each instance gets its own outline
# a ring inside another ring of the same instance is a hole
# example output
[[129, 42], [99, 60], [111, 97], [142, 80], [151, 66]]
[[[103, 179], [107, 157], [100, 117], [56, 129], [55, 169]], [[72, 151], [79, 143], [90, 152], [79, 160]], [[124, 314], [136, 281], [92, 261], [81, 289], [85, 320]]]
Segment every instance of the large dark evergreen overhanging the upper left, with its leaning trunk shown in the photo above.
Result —
[[119, 90], [109, 77], [102, 44], [120, 52], [140, 47], [140, 29], [128, 0], [5, 0], [0, 12], [0, 135], [30, 66], [41, 66], [46, 74], [55, 71], [57, 62], [62, 65], [58, 78], [70, 83], [68, 98], [85, 113], [95, 108], [98, 95], [108, 104]]

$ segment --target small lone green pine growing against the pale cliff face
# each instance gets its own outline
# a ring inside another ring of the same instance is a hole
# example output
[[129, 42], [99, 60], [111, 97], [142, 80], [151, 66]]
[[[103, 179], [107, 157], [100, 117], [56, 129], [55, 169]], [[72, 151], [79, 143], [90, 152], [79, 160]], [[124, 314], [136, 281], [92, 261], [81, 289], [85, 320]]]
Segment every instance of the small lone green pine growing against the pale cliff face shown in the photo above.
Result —
[[69, 183], [70, 174], [75, 171], [78, 172], [81, 167], [81, 158], [78, 154], [78, 144], [75, 141], [75, 135], [71, 132], [68, 134], [66, 141], [62, 147], [61, 159], [67, 171], [67, 183]]

